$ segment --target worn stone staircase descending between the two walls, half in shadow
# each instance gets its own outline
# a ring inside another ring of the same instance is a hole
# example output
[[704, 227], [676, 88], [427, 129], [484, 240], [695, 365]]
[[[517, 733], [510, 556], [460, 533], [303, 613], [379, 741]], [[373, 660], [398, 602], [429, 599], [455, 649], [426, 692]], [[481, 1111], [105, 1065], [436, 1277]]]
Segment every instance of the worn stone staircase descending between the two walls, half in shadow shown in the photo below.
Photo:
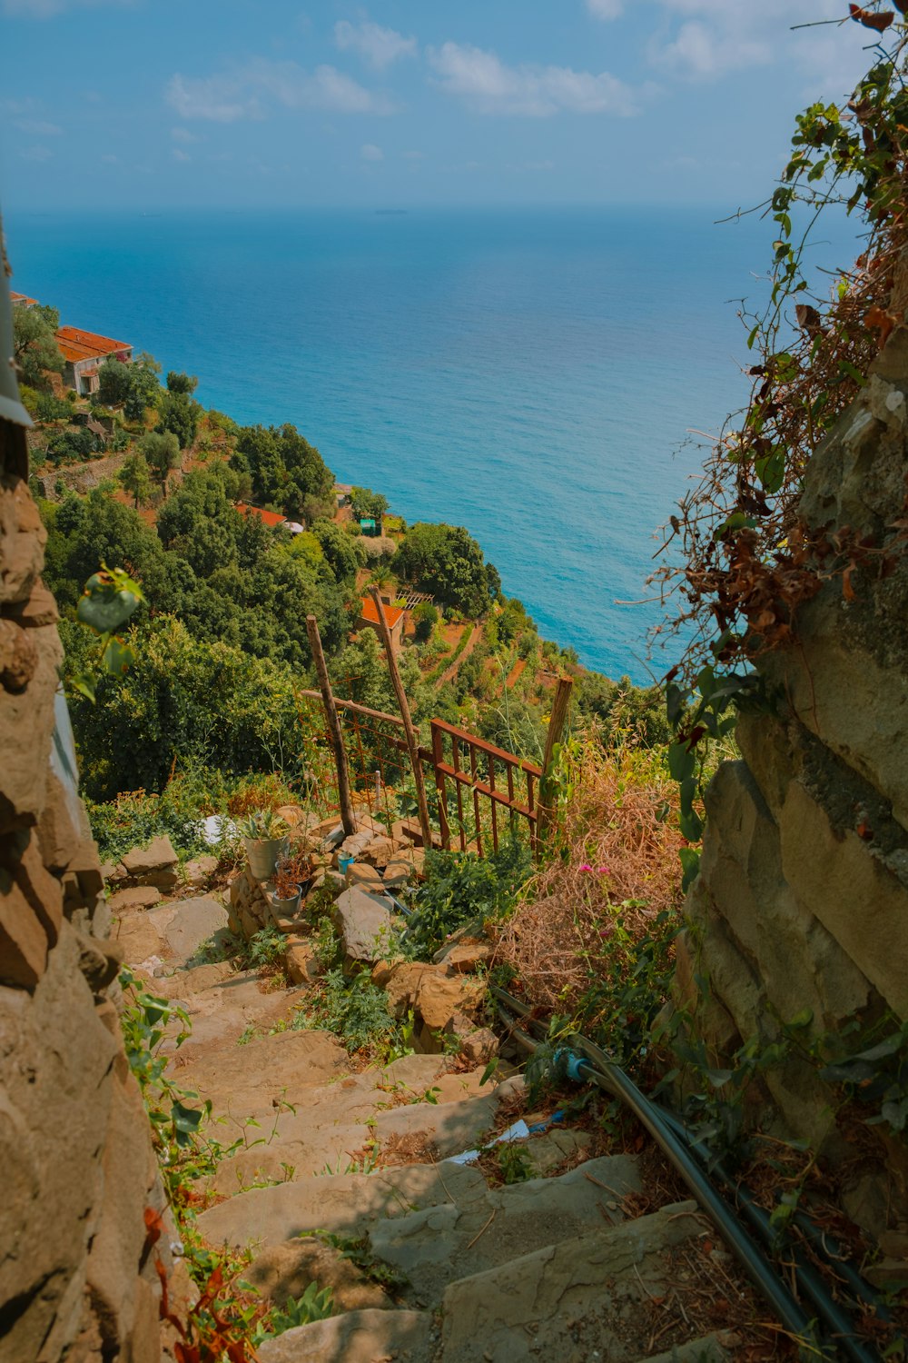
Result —
[[482, 1086], [482, 1067], [455, 1073], [444, 1055], [363, 1069], [331, 1033], [285, 1029], [310, 985], [196, 964], [226, 930], [222, 898], [114, 900], [113, 935], [192, 1020], [174, 1078], [211, 1101], [223, 1146], [200, 1234], [252, 1246], [244, 1276], [268, 1302], [334, 1291], [339, 1314], [265, 1340], [261, 1363], [732, 1356], [677, 1313], [663, 1326], [677, 1255], [716, 1253], [693, 1202], [628, 1219], [638, 1160], [591, 1156], [589, 1134], [550, 1111], [509, 1142], [542, 1176], [490, 1186], [460, 1157], [515, 1122], [521, 1077], [502, 1065]]

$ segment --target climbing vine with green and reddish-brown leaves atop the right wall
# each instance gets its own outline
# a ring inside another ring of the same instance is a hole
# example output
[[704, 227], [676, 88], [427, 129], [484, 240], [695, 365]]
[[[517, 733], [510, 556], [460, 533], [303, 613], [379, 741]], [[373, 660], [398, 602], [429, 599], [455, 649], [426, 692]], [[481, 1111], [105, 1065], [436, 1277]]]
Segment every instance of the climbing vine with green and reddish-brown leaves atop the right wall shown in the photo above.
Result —
[[[662, 628], [687, 639], [666, 698], [675, 731], [668, 762], [692, 844], [702, 834], [709, 741], [732, 732], [742, 706], [768, 703], [754, 661], [792, 642], [798, 608], [824, 582], [839, 581], [843, 597], [855, 600], [862, 574], [890, 571], [904, 552], [908, 519], [873, 540], [847, 526], [809, 526], [799, 510], [807, 463], [900, 320], [893, 294], [904, 288], [898, 267], [908, 244], [908, 3], [893, 3], [848, 7], [841, 22], [875, 35], [870, 70], [841, 105], [815, 102], [798, 116], [780, 183], [751, 210], [769, 218], [775, 240], [768, 301], [741, 313], [754, 354], [750, 399], [670, 518], [653, 575], [670, 608]], [[860, 219], [863, 249], [824, 296], [807, 258], [834, 210]], [[904, 320], [904, 300], [898, 308]], [[697, 872], [694, 846], [682, 861], [686, 886]]]

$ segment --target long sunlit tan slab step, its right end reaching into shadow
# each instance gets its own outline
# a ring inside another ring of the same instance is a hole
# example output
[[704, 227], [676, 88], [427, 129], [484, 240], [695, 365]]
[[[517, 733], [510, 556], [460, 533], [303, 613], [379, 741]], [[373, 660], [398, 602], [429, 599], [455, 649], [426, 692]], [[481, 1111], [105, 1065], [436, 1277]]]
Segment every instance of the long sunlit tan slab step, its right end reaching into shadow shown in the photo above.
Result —
[[406, 1216], [485, 1191], [476, 1168], [411, 1164], [376, 1174], [335, 1174], [250, 1189], [208, 1208], [199, 1231], [210, 1244], [280, 1244], [312, 1231], [363, 1235], [380, 1217]]

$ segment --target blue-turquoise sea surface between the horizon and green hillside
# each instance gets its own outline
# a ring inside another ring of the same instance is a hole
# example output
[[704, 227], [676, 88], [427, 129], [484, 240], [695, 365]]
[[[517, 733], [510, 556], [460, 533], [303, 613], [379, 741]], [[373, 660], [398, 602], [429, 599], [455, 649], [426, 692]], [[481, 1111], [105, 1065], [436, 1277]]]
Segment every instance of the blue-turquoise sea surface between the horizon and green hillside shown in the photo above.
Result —
[[[540, 632], [645, 682], [658, 527], [741, 408], [772, 225], [712, 209], [7, 213], [14, 288], [464, 525]], [[844, 260], [840, 263], [848, 263]]]

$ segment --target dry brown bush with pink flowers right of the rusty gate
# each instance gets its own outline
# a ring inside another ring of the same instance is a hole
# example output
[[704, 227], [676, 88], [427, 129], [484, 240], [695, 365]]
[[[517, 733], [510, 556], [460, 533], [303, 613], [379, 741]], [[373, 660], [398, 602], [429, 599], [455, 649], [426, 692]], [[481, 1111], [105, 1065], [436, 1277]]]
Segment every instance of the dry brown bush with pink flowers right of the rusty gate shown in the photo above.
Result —
[[496, 961], [516, 969], [530, 1002], [572, 1011], [598, 962], [626, 951], [659, 913], [678, 908], [677, 815], [678, 786], [662, 754], [584, 744], [562, 855], [528, 882], [524, 902], [498, 930]]

